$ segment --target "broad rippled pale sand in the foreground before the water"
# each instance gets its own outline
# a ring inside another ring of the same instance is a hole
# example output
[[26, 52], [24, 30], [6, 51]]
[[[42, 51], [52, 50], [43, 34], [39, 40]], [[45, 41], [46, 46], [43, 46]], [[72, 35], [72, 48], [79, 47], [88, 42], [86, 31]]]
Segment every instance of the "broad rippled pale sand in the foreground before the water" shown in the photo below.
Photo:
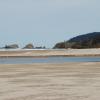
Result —
[[0, 100], [99, 99], [99, 62], [0, 65]]

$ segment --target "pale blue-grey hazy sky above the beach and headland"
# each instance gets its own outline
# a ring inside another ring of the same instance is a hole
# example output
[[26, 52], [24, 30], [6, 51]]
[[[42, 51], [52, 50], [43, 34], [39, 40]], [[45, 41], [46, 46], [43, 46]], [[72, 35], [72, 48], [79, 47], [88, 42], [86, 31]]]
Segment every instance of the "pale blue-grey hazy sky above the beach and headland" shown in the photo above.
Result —
[[57, 42], [100, 32], [100, 0], [0, 0], [0, 47]]

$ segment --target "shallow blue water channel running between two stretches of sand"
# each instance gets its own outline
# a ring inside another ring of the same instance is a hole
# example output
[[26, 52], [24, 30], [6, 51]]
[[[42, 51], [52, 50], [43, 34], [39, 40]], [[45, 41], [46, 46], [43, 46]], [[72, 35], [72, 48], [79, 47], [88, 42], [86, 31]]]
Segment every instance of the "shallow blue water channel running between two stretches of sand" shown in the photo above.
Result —
[[100, 57], [0, 58], [0, 64], [99, 62]]

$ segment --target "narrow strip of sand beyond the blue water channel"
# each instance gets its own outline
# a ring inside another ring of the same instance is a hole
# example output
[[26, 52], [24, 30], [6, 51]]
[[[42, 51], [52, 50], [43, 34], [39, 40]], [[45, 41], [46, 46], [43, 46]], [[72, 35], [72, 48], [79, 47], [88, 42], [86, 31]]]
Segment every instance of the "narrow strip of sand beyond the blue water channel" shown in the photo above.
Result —
[[0, 51], [0, 57], [48, 57], [48, 56], [100, 56], [100, 48], [99, 49], [66, 49], [66, 50]]

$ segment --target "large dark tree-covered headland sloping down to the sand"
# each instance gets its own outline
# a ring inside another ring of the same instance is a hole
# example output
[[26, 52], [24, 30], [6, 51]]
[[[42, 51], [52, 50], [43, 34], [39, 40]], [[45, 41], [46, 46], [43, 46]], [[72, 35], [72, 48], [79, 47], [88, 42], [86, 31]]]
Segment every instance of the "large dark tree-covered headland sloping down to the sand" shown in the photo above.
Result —
[[76, 36], [66, 42], [57, 43], [54, 48], [100, 48], [100, 32]]

